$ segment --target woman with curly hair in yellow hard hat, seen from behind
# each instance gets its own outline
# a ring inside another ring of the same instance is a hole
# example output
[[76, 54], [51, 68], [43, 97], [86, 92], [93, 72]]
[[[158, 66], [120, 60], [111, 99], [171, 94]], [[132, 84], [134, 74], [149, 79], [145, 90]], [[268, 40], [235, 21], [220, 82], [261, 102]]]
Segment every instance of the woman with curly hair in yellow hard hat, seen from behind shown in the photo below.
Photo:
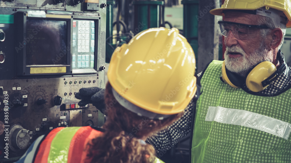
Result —
[[[55, 128], [19, 162], [162, 162], [144, 141], [182, 116], [196, 94], [194, 73], [194, 52], [178, 29], [140, 32], [111, 57], [102, 128]], [[96, 90], [81, 88], [76, 97], [90, 101]]]

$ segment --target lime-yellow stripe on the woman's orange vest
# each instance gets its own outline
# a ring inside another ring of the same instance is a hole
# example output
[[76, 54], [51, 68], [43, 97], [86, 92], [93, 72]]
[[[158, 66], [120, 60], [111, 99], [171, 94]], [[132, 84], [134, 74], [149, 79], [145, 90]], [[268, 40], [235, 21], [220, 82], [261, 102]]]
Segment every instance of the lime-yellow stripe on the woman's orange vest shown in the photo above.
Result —
[[81, 127], [67, 127], [59, 131], [51, 143], [47, 162], [67, 162], [71, 140]]

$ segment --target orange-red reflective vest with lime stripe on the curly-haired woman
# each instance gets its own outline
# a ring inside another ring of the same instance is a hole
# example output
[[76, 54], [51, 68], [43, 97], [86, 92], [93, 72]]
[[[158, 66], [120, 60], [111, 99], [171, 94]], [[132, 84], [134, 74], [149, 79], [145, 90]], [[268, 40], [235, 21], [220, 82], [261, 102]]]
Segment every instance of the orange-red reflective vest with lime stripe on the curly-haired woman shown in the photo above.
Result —
[[[36, 139], [16, 163], [89, 163], [87, 144], [102, 134], [90, 126], [58, 127]], [[158, 158], [155, 163], [164, 163]]]

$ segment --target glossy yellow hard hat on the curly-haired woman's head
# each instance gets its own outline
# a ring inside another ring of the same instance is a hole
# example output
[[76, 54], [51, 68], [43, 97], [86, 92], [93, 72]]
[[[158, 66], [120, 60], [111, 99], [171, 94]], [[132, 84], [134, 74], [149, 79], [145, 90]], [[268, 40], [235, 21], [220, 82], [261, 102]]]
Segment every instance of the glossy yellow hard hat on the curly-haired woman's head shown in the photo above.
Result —
[[113, 95], [123, 98], [115, 95], [119, 103], [128, 101], [150, 113], [172, 115], [182, 112], [194, 97], [194, 73], [194, 51], [179, 30], [150, 28], [116, 48], [107, 76]]

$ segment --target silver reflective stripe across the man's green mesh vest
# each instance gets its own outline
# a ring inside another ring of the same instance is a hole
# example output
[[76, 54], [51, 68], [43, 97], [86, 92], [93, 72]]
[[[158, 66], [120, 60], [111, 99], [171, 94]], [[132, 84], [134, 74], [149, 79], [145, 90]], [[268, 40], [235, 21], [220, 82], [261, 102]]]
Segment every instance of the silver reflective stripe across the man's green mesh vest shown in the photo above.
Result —
[[205, 121], [254, 128], [288, 140], [291, 124], [272, 117], [239, 109], [209, 106]]

